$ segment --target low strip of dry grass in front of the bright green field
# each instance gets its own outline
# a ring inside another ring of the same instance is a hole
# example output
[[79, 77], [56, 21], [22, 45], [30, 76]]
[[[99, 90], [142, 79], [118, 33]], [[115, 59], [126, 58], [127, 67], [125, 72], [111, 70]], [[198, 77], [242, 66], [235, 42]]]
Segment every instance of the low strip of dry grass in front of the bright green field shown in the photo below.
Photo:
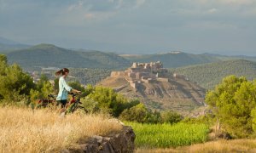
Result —
[[194, 144], [187, 147], [180, 147], [177, 149], [137, 149], [138, 152], [256, 152], [255, 139], [235, 139], [235, 140], [218, 140], [207, 142], [205, 144]]

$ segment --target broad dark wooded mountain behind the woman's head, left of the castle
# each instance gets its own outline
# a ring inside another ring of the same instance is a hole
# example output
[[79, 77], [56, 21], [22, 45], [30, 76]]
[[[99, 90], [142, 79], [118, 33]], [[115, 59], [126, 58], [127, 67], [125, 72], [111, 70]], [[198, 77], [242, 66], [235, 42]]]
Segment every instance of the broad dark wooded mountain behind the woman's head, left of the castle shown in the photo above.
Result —
[[39, 66], [120, 69], [130, 65], [128, 60], [117, 54], [100, 51], [79, 52], [51, 44], [39, 44], [6, 55], [10, 64], [17, 63], [23, 68]]

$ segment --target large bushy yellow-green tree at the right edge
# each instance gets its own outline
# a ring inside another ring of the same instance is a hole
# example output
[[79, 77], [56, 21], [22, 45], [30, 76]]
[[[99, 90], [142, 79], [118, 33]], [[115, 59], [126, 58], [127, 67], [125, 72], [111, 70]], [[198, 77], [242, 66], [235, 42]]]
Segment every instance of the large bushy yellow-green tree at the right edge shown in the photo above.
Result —
[[234, 138], [253, 133], [251, 112], [256, 106], [256, 82], [229, 76], [206, 95], [206, 102], [219, 118], [224, 131]]

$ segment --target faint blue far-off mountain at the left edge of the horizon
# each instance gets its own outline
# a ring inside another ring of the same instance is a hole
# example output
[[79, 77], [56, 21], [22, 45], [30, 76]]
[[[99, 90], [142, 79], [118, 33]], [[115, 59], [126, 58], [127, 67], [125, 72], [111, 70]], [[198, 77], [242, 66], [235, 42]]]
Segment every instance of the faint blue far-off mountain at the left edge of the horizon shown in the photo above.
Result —
[[29, 45], [20, 44], [19, 42], [14, 42], [12, 40], [0, 37], [0, 53], [7, 53], [10, 50], [28, 48]]

